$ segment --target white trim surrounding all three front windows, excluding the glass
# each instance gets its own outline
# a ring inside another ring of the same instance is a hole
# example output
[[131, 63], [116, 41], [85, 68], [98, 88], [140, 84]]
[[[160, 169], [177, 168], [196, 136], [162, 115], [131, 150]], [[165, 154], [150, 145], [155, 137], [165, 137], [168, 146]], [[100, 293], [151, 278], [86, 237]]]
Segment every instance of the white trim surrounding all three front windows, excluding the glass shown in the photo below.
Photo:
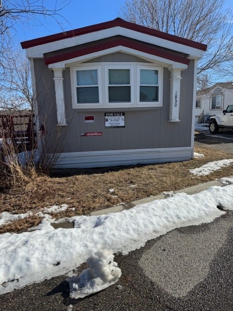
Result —
[[[145, 63], [121, 63], [121, 62], [106, 62], [106, 63], [92, 63], [80, 64], [70, 68], [71, 74], [71, 88], [72, 88], [72, 107], [74, 109], [87, 108], [137, 108], [137, 107], [162, 107], [163, 94], [163, 67], [155, 64]], [[77, 103], [76, 92], [76, 70], [97, 69], [98, 72], [98, 86], [99, 86], [99, 103]], [[131, 102], [126, 103], [109, 103], [109, 69], [130, 69], [130, 90]], [[158, 102], [140, 102], [140, 69], [154, 69], [158, 70]]]

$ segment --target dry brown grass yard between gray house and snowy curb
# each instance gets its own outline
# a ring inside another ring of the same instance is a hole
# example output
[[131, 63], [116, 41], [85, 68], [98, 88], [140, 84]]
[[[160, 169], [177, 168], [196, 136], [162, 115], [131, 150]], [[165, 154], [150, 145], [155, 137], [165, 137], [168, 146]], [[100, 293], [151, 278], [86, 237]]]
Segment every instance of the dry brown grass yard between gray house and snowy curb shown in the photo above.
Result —
[[[34, 176], [24, 187], [0, 193], [0, 213], [38, 212], [44, 207], [67, 204], [75, 210], [51, 214], [54, 218], [88, 214], [93, 210], [127, 204], [163, 191], [179, 190], [202, 182], [233, 175], [233, 166], [207, 176], [194, 176], [190, 169], [203, 164], [232, 158], [232, 154], [195, 147], [204, 158], [185, 162], [111, 167], [103, 169], [59, 170], [51, 176]], [[110, 192], [109, 189], [114, 189]], [[31, 216], [3, 225], [0, 233], [17, 232], [38, 225], [41, 219]]]

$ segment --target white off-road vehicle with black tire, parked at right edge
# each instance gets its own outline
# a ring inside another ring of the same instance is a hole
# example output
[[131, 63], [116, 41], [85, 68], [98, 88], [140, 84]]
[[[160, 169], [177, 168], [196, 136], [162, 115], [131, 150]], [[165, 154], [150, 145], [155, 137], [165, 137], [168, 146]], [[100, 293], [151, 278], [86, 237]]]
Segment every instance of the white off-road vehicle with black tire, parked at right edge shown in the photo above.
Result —
[[233, 129], [233, 104], [227, 106], [226, 110], [209, 119], [209, 131], [211, 134], [216, 134], [219, 128]]

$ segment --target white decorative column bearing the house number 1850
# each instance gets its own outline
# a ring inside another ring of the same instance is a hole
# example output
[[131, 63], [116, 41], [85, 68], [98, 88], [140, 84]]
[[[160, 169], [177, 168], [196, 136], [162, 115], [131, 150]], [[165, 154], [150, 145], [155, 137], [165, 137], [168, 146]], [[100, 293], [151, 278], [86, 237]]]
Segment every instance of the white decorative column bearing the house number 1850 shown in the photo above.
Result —
[[179, 122], [181, 69], [171, 68], [169, 121]]

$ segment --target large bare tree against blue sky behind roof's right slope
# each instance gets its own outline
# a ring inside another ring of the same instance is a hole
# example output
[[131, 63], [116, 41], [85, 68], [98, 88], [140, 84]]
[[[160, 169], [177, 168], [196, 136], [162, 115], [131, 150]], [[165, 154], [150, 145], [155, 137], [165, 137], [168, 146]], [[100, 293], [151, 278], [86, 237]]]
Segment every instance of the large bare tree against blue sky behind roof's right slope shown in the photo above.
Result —
[[221, 71], [233, 59], [233, 10], [223, 10], [223, 4], [224, 0], [126, 0], [120, 16], [207, 44], [207, 52], [198, 64], [200, 78], [207, 71]]

